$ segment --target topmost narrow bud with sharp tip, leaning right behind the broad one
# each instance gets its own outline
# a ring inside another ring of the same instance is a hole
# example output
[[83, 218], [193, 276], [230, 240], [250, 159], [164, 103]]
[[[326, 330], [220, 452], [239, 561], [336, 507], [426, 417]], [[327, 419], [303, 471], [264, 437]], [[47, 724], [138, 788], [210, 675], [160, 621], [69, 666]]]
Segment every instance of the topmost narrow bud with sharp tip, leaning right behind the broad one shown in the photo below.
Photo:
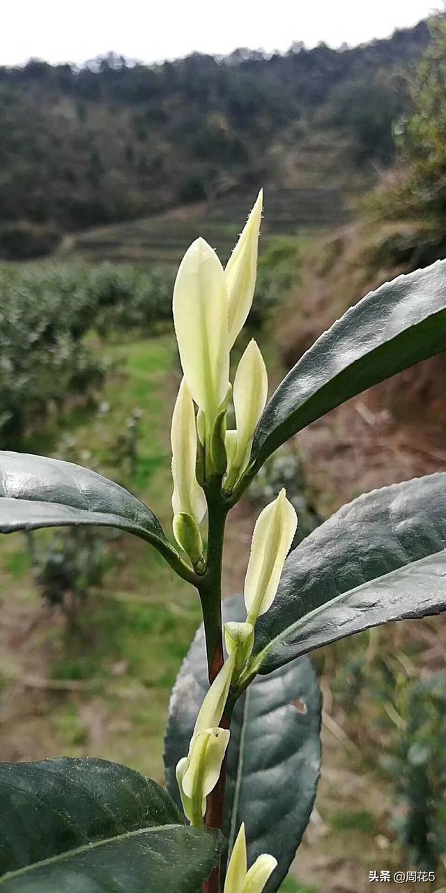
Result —
[[225, 270], [229, 349], [234, 345], [235, 338], [243, 329], [252, 306], [257, 277], [257, 252], [262, 204], [263, 191], [260, 189], [257, 201], [252, 208], [252, 212], [227, 262]]

